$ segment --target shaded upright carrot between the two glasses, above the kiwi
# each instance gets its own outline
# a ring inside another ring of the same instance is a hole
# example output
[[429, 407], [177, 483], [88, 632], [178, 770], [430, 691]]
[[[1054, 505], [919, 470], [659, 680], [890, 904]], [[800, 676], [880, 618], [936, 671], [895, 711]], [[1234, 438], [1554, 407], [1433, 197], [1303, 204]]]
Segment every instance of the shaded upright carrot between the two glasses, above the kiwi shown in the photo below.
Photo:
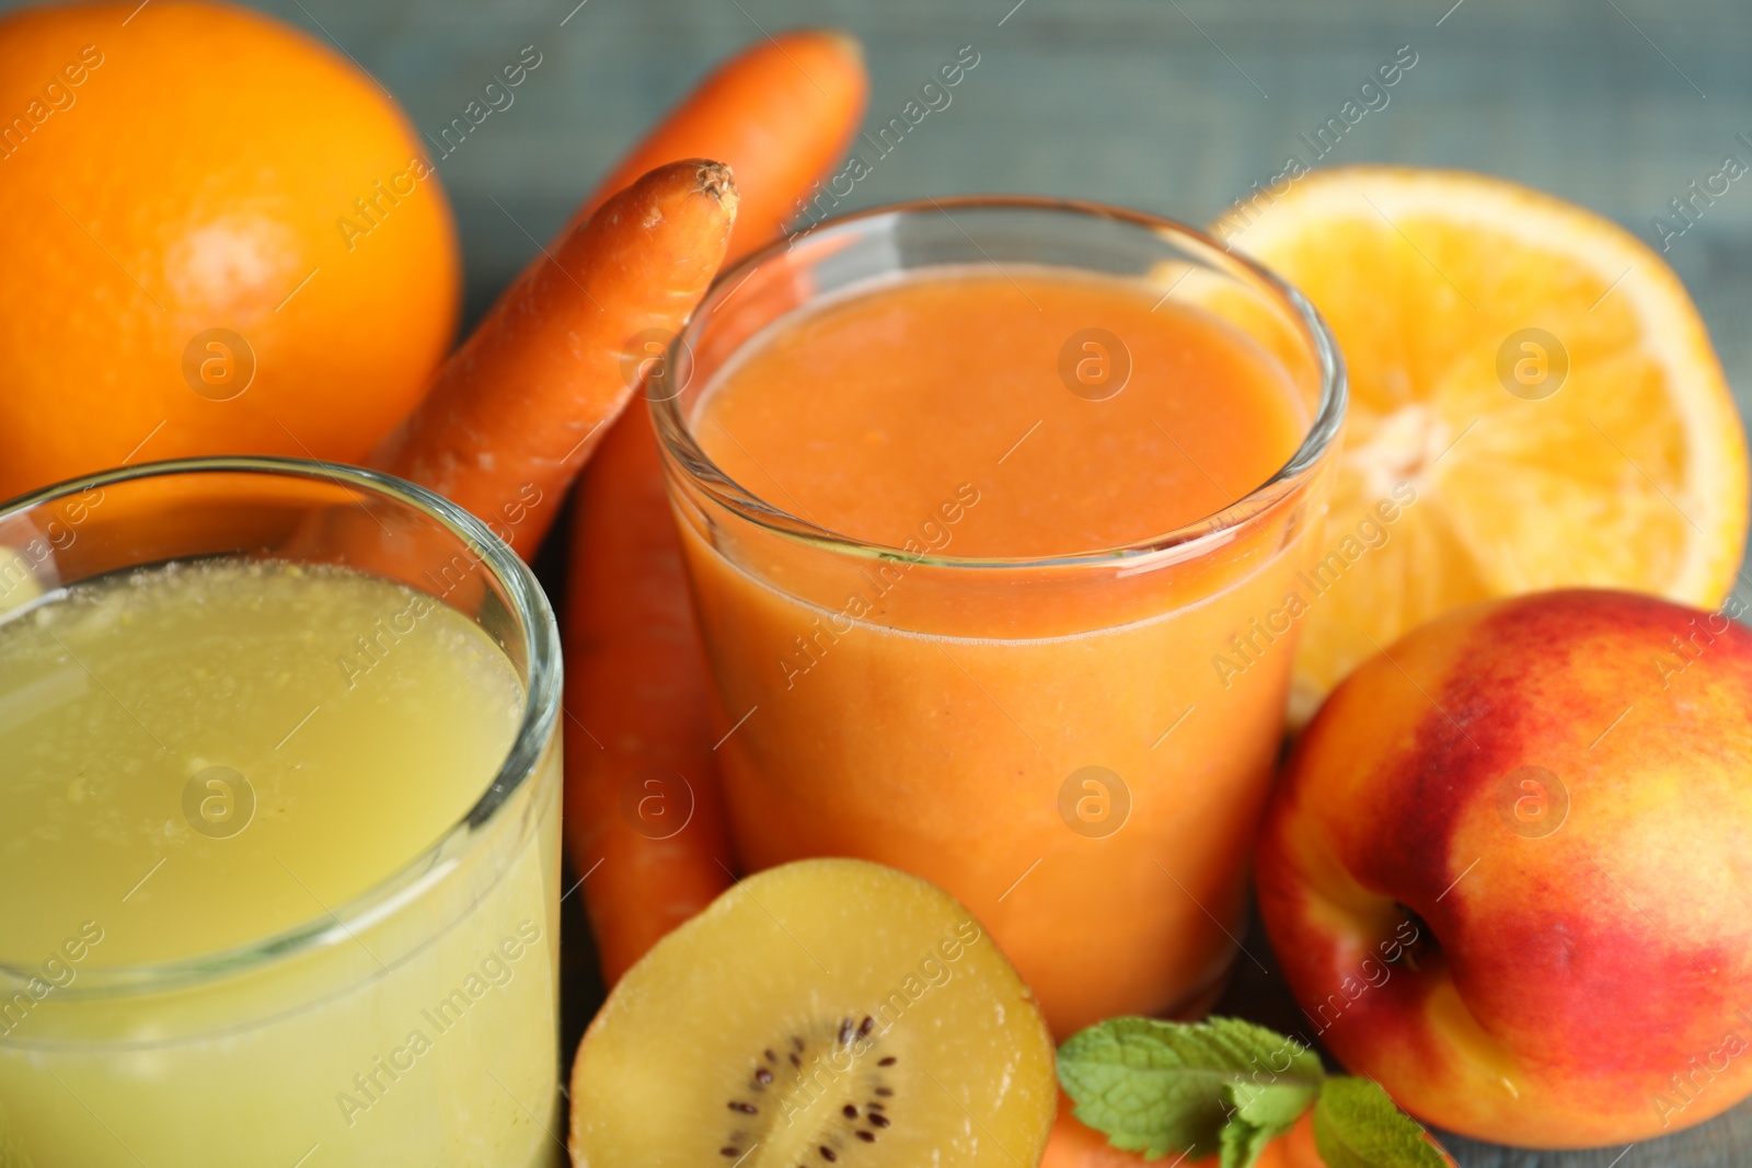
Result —
[[[568, 709], [580, 718], [566, 728], [566, 827], [573, 865], [590, 872], [585, 909], [613, 986], [729, 888], [736, 862], [706, 655], [645, 410], [610, 431], [580, 492], [566, 595]], [[664, 839], [671, 827], [682, 830]]]

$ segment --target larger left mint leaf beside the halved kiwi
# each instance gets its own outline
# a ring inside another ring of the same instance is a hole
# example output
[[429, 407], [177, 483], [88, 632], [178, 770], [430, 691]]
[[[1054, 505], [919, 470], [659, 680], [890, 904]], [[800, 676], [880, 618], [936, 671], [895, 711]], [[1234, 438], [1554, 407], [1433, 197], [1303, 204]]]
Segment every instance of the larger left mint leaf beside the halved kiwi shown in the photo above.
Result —
[[[1305, 1108], [1323, 1079], [1319, 1058], [1305, 1045], [1233, 1017], [1204, 1023], [1114, 1017], [1072, 1035], [1058, 1049], [1058, 1082], [1076, 1101], [1077, 1119], [1114, 1147], [1144, 1152], [1146, 1159], [1221, 1150], [1230, 1114], [1270, 1140], [1293, 1098], [1275, 1087], [1305, 1093]], [[1254, 1119], [1240, 1115], [1242, 1110]], [[1226, 1164], [1251, 1164], [1251, 1157], [1239, 1157], [1249, 1147], [1258, 1156], [1263, 1147], [1263, 1140], [1246, 1133], [1228, 1138], [1237, 1159]]]

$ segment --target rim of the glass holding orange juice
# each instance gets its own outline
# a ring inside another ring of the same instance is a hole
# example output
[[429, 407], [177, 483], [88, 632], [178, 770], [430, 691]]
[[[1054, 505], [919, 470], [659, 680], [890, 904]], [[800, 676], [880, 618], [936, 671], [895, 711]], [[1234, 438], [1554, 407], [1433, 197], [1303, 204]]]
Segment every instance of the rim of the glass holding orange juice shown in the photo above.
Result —
[[[1232, 250], [1223, 242], [1197, 228], [1163, 215], [1153, 215], [1149, 212], [1113, 207], [1090, 200], [1044, 198], [1030, 194], [955, 194], [943, 198], [920, 198], [902, 203], [885, 203], [881, 207], [871, 207], [846, 215], [823, 219], [804, 231], [767, 243], [734, 266], [718, 273], [718, 278], [713, 280], [689, 324], [671, 340], [666, 355], [666, 362], [669, 362], [668, 368], [685, 368], [689, 369], [689, 376], [692, 376], [692, 340], [697, 338], [703, 327], [711, 320], [715, 310], [720, 308], [736, 291], [739, 291], [757, 270], [787, 256], [801, 242], [818, 238], [832, 240], [853, 231], [867, 229], [878, 221], [899, 221], [911, 215], [943, 215], [948, 219], [951, 210], [1056, 212], [1067, 219], [1100, 219], [1137, 228], [1156, 238], [1190, 243], [1191, 247], [1188, 250], [1191, 252], [1219, 252], [1226, 263], [1235, 264], [1242, 273], [1251, 277], [1253, 282], [1267, 292], [1279, 308], [1288, 312], [1289, 319], [1300, 326], [1303, 340], [1312, 352], [1319, 371], [1319, 401], [1314, 408], [1314, 417], [1309, 420], [1309, 429], [1302, 438], [1302, 443], [1289, 455], [1289, 459], [1270, 475], [1270, 478], [1204, 518], [1191, 520], [1174, 531], [1148, 536], [1132, 543], [1093, 548], [1088, 552], [1027, 557], [964, 557], [939, 555], [936, 552], [915, 553], [901, 546], [836, 532], [792, 515], [785, 508], [769, 503], [760, 494], [748, 490], [732, 480], [718, 468], [717, 462], [711, 461], [694, 438], [687, 420], [682, 417], [680, 391], [662, 398], [646, 394], [652, 424], [657, 431], [666, 461], [676, 464], [696, 489], [703, 490], [713, 503], [724, 506], [732, 515], [757, 524], [774, 534], [809, 543], [827, 552], [865, 559], [906, 559], [909, 564], [936, 567], [1049, 569], [1113, 566], [1116, 562], [1125, 562], [1127, 567], [1135, 571], [1135, 564], [1132, 562], [1142, 557], [1172, 553], [1179, 559], [1183, 555], [1197, 555], [1198, 552], [1216, 546], [1218, 543], [1226, 543], [1230, 538], [1228, 532], [1244, 525], [1253, 517], [1270, 510], [1270, 506], [1284, 494], [1300, 485], [1309, 471], [1312, 471], [1328, 450], [1332, 450], [1344, 427], [1346, 408], [1349, 403], [1349, 385], [1344, 354], [1339, 350], [1339, 341], [1333, 338], [1332, 329], [1326, 326], [1325, 317], [1319, 315], [1319, 310], [1314, 308], [1312, 301], [1309, 301], [1307, 296], [1270, 268], [1265, 268], [1254, 259]], [[953, 222], [953, 219], [950, 221]], [[974, 247], [978, 249], [979, 245], [974, 243]], [[1002, 266], [990, 257], [988, 263], [992, 263], [993, 268], [1002, 270]], [[815, 298], [804, 301], [804, 305], [813, 299]], [[795, 308], [792, 312], [795, 312]]]

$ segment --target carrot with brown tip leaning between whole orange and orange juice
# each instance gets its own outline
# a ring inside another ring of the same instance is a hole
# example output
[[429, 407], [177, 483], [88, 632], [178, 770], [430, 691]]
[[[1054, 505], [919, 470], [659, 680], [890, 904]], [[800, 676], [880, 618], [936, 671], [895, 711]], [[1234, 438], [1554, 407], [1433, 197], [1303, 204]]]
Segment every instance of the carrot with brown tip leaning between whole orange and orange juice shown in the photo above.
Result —
[[629, 338], [675, 333], [724, 263], [729, 166], [659, 166], [531, 261], [371, 466], [431, 487], [526, 555], [632, 396]]

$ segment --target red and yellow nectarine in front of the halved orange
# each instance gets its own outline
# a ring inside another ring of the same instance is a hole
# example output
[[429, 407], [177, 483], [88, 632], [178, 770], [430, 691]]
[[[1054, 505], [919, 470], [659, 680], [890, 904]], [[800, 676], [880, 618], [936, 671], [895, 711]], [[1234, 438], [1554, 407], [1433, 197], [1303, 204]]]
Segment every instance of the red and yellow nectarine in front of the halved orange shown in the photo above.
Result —
[[1300, 739], [1258, 851], [1316, 1033], [1424, 1121], [1626, 1143], [1752, 1091], [1752, 634], [1622, 592], [1451, 613]]

